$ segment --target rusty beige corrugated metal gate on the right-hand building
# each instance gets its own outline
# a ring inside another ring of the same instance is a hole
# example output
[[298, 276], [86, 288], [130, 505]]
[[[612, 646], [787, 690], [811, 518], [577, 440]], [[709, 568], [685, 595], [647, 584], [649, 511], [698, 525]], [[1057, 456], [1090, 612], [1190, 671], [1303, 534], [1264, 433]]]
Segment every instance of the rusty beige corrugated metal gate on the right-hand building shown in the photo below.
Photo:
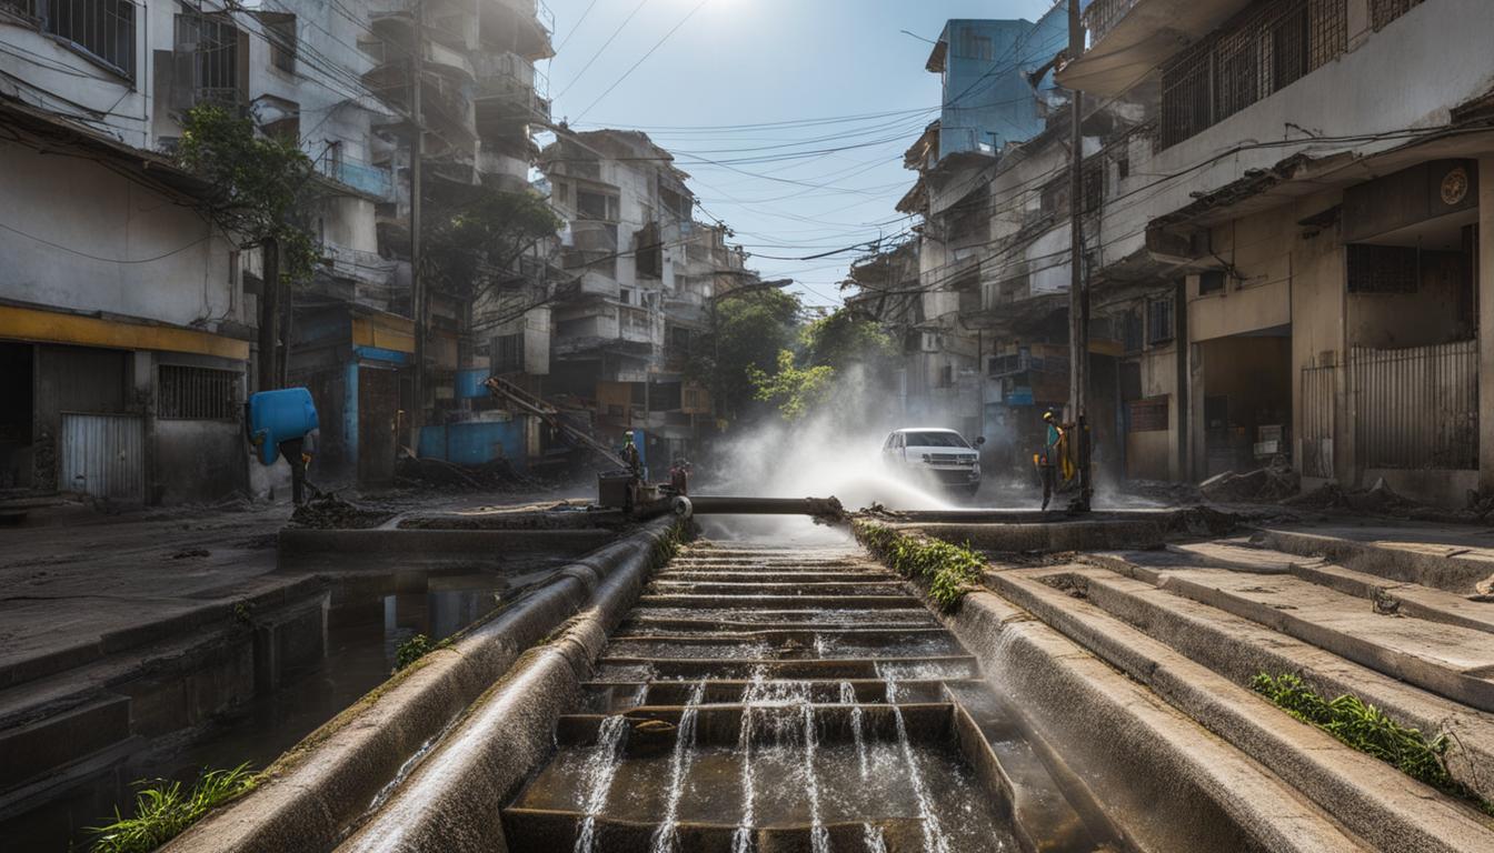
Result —
[[1349, 376], [1360, 466], [1479, 468], [1478, 341], [1354, 350]]

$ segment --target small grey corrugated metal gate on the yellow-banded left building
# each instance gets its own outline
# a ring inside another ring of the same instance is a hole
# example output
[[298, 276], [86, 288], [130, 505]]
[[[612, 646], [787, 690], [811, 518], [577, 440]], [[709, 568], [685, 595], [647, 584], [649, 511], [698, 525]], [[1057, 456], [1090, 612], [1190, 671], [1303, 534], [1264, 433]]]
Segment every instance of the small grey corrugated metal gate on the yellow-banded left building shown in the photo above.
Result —
[[145, 424], [139, 415], [63, 412], [58, 487], [94, 497], [145, 500]]

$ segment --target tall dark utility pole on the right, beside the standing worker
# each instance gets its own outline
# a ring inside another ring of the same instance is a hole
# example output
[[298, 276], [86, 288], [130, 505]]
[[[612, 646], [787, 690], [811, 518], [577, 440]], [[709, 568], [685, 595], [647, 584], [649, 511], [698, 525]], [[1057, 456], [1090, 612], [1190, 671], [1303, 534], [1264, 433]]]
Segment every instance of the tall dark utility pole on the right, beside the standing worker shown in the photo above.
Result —
[[[1085, 52], [1085, 27], [1079, 19], [1079, 0], [1068, 0], [1068, 61]], [[1079, 459], [1079, 499], [1076, 509], [1089, 509], [1089, 423], [1085, 417], [1089, 385], [1089, 290], [1085, 276], [1085, 93], [1071, 88], [1068, 94], [1073, 128], [1070, 130], [1068, 161], [1068, 415], [1074, 424]]]

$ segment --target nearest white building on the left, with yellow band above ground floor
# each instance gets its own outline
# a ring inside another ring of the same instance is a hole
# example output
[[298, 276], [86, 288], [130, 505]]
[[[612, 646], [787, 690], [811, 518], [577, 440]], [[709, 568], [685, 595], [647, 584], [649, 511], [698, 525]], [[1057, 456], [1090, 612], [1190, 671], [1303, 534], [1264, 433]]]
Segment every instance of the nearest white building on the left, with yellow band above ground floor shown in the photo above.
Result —
[[248, 486], [254, 302], [154, 154], [172, 6], [0, 4], [0, 486], [121, 503]]

